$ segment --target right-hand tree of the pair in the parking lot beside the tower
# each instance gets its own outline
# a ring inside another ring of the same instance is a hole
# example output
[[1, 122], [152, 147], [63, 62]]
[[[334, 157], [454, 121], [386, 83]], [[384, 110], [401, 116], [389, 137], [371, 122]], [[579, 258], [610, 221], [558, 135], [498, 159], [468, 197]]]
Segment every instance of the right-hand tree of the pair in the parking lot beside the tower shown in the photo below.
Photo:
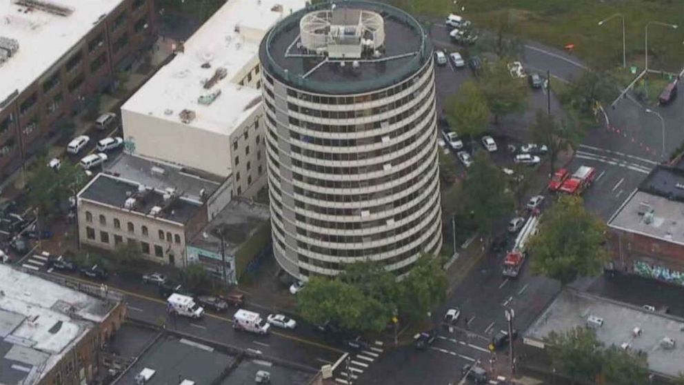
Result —
[[502, 115], [525, 109], [529, 88], [523, 79], [511, 77], [505, 61], [487, 63], [483, 72], [480, 90], [494, 115], [494, 124], [499, 124]]

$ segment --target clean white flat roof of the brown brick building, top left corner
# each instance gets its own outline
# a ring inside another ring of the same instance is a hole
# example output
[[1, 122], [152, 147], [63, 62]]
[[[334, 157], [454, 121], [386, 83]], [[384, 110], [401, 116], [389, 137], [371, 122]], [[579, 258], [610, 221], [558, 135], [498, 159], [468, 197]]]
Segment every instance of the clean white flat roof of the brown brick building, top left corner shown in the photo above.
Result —
[[19, 51], [0, 64], [0, 101], [14, 90], [23, 92], [121, 1], [50, 0], [73, 11], [65, 17], [43, 10], [26, 12], [12, 0], [0, 0], [0, 37], [19, 41]]

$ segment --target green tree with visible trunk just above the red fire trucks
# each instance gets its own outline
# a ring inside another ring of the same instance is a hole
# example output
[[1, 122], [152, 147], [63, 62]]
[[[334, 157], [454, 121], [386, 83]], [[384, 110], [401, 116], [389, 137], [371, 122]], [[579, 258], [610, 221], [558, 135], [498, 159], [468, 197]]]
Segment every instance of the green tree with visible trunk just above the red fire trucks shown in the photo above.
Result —
[[567, 146], [575, 146], [579, 141], [580, 133], [576, 127], [565, 120], [559, 123], [552, 115], [537, 110], [536, 120], [530, 127], [530, 135], [532, 141], [549, 149], [551, 174], [555, 171], [559, 152], [567, 149]]

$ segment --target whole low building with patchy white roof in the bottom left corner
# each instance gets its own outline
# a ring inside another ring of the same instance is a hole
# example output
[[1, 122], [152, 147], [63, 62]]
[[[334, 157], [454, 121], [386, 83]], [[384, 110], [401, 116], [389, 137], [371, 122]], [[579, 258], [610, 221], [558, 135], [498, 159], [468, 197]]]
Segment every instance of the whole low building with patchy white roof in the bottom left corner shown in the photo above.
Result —
[[116, 293], [78, 287], [0, 264], [0, 384], [93, 383], [126, 308]]

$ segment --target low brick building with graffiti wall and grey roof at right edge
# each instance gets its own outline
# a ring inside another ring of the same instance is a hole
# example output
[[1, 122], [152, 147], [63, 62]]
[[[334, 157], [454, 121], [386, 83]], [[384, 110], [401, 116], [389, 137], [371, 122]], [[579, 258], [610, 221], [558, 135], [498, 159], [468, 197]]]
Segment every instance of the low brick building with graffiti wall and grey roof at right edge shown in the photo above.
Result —
[[684, 285], [683, 168], [654, 168], [608, 227], [612, 268]]

